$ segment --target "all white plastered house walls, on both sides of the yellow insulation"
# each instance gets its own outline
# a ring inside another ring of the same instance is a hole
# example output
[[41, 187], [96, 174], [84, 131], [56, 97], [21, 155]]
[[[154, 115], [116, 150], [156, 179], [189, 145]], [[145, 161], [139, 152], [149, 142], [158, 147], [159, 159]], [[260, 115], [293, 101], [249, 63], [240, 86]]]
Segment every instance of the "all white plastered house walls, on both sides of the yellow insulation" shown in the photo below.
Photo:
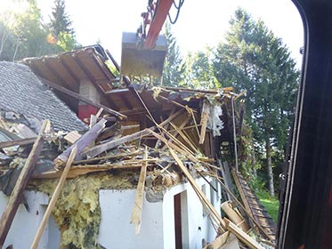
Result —
[[[218, 194], [210, 188], [203, 179], [197, 180], [201, 187], [205, 185], [206, 197], [210, 199], [220, 212], [220, 189]], [[215, 183], [212, 181], [215, 185]], [[212, 191], [212, 192], [210, 192]], [[174, 195], [182, 193], [182, 245], [183, 249], [202, 248], [202, 239], [211, 242], [215, 238], [207, 216], [203, 215], [202, 205], [189, 183], [179, 184], [166, 190], [163, 200], [149, 202], [144, 194], [142, 207], [142, 225], [139, 235], [130, 224], [136, 189], [100, 190], [101, 226], [98, 241], [104, 247], [111, 249], [130, 248], [175, 248], [174, 233]], [[29, 248], [36, 230], [43, 219], [49, 197], [41, 192], [26, 191], [30, 212], [20, 205], [15, 215], [12, 227], [4, 243], [4, 248]], [[0, 192], [0, 213], [8, 201]], [[60, 233], [51, 219], [45, 228], [38, 248], [59, 248]]]

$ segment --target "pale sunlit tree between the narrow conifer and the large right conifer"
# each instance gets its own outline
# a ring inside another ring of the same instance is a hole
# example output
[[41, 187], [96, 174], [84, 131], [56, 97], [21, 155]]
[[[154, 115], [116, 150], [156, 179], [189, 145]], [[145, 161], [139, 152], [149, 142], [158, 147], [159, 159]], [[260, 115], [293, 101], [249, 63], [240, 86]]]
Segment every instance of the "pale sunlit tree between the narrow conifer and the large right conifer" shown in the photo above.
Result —
[[186, 58], [186, 85], [196, 89], [215, 89], [221, 87], [214, 75], [211, 49], [189, 53]]

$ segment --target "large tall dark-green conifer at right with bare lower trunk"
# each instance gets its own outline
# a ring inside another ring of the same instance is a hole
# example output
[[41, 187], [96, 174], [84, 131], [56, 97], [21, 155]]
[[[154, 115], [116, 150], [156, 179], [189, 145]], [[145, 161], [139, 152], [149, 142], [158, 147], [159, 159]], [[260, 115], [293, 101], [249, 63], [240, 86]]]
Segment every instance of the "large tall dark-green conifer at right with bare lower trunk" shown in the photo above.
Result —
[[265, 154], [269, 190], [274, 195], [272, 150], [286, 148], [299, 72], [287, 46], [262, 20], [242, 9], [230, 21], [225, 42], [215, 51], [215, 77], [237, 91], [247, 90], [246, 113], [256, 144]]

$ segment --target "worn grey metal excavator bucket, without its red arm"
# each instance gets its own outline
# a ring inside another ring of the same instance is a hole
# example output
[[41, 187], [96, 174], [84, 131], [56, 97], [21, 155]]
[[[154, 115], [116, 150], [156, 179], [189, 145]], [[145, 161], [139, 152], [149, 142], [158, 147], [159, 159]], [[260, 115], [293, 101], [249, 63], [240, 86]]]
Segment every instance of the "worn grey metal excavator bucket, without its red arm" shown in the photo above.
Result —
[[163, 74], [166, 58], [166, 36], [159, 35], [153, 49], [140, 49], [135, 33], [124, 32], [122, 36], [121, 75], [153, 76]]

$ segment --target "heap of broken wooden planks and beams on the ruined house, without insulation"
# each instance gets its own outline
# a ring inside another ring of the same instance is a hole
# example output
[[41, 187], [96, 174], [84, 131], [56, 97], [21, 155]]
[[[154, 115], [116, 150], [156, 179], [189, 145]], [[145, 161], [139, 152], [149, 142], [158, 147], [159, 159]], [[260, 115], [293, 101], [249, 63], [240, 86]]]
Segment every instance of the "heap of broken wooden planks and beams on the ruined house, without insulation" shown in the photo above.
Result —
[[[144, 188], [147, 188], [145, 187], [147, 177], [152, 180], [152, 186], [156, 188], [169, 188], [186, 179], [195, 190], [219, 235], [215, 242], [207, 245], [206, 248], [221, 248], [227, 243], [233, 246], [230, 248], [239, 248], [239, 246], [234, 247], [238, 245], [238, 242], [234, 242], [235, 240], [239, 240], [240, 244], [247, 245], [249, 248], [263, 248], [247, 234], [250, 230], [248, 227], [250, 222], [245, 221], [247, 218], [244, 218], [247, 217], [247, 214], [242, 216], [238, 213], [238, 220], [232, 220], [233, 215], [229, 216], [230, 220], [221, 217], [195, 180], [198, 177], [204, 179], [215, 177], [223, 184], [220, 177], [221, 169], [218, 164], [215, 164], [217, 158], [215, 158], [214, 151], [214, 134], [221, 133], [223, 128], [231, 130], [227, 124], [228, 120], [231, 120], [228, 118], [230, 116], [229, 107], [234, 96], [238, 96], [230, 92], [230, 89], [226, 90], [224, 89], [223, 94], [200, 92], [197, 100], [200, 99], [201, 104], [196, 105], [196, 108], [170, 100], [173, 108], [161, 113], [161, 117], [156, 116], [155, 113], [152, 115], [140, 94], [136, 92], [146, 108], [146, 120], [148, 121], [145, 124], [129, 124], [130, 122], [114, 121], [114, 119], [108, 121], [109, 119], [106, 118], [108, 111], [105, 112], [101, 108], [96, 116], [92, 116], [90, 130], [84, 134], [76, 131], [66, 135], [51, 133], [47, 128], [49, 122], [45, 121], [36, 137], [0, 142], [0, 149], [16, 146], [25, 151], [25, 153], [13, 155], [16, 158], [22, 158], [25, 164], [20, 170], [20, 177], [16, 180], [14, 187], [7, 191], [11, 197], [0, 222], [0, 247], [4, 244], [14, 214], [21, 202], [22, 191], [29, 180], [59, 179], [45, 218], [31, 246], [31, 248], [36, 248], [43, 234], [45, 222], [52, 212], [66, 179], [92, 173], [135, 171], [139, 177], [131, 222], [135, 225], [136, 234], [140, 232], [142, 222], [142, 197]], [[217, 96], [215, 97], [215, 95]], [[165, 98], [161, 95], [156, 98], [158, 99], [158, 97]], [[212, 100], [214, 100], [213, 103]], [[222, 119], [221, 112], [215, 111], [216, 107], [223, 109]], [[214, 125], [217, 128], [214, 128]], [[32, 149], [30, 149], [31, 143], [34, 143]], [[43, 144], [45, 146], [44, 154]], [[25, 158], [27, 150], [29, 151], [28, 158]], [[51, 150], [53, 153], [50, 152]], [[3, 165], [0, 178], [4, 179], [7, 175], [10, 179], [12, 170], [9, 165], [14, 157], [3, 154], [11, 158], [8, 160], [8, 158], [0, 157], [0, 163]], [[45, 154], [47, 154], [47, 158]], [[45, 166], [50, 164], [51, 168]], [[210, 181], [206, 181], [210, 184]], [[224, 184], [222, 186], [230, 195], [233, 195], [229, 188]], [[4, 189], [2, 190], [4, 191]], [[241, 205], [240, 202], [239, 205]], [[230, 211], [230, 213], [234, 212]], [[261, 235], [264, 237], [263, 233]]]

